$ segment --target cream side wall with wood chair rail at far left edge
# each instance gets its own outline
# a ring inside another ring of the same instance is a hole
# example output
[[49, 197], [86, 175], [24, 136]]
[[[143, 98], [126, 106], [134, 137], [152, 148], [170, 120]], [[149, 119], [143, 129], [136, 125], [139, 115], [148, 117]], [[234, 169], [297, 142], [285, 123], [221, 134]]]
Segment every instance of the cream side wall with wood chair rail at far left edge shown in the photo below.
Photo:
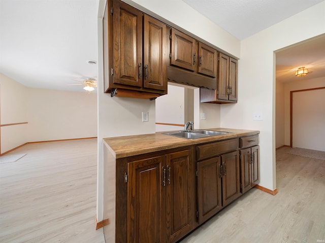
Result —
[[[26, 123], [27, 88], [0, 73], [0, 124]], [[28, 124], [1, 127], [1, 153], [18, 147], [27, 140]]]

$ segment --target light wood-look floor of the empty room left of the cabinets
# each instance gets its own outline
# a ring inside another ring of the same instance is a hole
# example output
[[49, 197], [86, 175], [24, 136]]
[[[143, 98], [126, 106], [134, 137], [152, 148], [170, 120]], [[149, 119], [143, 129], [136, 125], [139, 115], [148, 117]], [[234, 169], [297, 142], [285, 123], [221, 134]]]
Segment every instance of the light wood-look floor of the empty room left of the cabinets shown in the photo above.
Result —
[[97, 139], [27, 144], [0, 165], [0, 242], [105, 242], [95, 230]]

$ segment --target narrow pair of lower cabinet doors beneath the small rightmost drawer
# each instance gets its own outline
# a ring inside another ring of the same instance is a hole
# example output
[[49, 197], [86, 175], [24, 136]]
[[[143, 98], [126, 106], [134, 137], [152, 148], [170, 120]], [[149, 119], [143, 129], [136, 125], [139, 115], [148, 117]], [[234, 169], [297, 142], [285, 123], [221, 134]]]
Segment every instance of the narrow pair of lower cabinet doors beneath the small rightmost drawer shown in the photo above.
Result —
[[259, 146], [240, 150], [241, 192], [245, 193], [259, 182]]

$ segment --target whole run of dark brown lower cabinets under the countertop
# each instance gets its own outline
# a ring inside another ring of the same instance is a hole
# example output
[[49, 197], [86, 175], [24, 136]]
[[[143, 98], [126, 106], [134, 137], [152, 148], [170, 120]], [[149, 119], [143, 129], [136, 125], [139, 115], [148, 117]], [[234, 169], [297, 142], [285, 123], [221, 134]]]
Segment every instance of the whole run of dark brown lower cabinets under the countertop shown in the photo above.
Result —
[[257, 144], [251, 135], [116, 159], [116, 242], [180, 240], [258, 183]]

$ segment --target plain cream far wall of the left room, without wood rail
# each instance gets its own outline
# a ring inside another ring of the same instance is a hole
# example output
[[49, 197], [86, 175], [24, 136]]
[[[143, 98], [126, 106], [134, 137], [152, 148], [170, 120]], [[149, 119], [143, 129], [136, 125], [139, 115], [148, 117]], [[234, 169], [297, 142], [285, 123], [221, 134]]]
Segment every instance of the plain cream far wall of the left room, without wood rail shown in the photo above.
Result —
[[27, 89], [28, 141], [97, 137], [95, 93]]

